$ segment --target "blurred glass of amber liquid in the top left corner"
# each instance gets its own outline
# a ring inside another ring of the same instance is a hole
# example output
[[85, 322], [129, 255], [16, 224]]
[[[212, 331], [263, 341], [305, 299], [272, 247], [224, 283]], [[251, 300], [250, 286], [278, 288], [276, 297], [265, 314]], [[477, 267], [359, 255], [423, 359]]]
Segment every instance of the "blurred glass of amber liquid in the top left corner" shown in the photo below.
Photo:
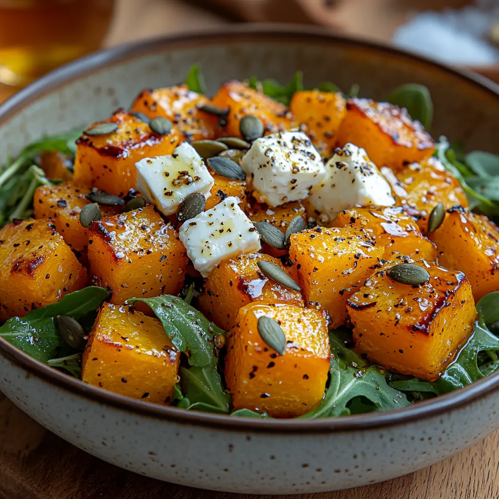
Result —
[[0, 0], [0, 83], [23, 86], [99, 48], [114, 0]]

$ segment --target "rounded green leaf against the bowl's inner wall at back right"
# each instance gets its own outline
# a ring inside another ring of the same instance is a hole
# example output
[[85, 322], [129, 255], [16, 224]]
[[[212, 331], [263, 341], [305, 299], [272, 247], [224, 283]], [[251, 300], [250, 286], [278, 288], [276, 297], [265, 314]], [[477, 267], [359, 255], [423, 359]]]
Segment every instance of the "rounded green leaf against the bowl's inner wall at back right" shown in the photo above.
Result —
[[414, 120], [430, 131], [433, 121], [433, 101], [430, 90], [419, 83], [406, 83], [392, 90], [388, 102], [405, 107]]

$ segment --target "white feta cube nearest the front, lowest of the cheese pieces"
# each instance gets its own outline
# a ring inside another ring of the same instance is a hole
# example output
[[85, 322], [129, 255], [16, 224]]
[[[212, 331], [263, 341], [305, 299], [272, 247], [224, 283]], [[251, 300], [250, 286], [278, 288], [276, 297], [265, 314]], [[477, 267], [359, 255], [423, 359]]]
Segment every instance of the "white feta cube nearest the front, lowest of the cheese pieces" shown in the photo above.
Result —
[[258, 231], [238, 203], [239, 198], [230, 196], [179, 229], [180, 241], [203, 277], [222, 260], [260, 249]]

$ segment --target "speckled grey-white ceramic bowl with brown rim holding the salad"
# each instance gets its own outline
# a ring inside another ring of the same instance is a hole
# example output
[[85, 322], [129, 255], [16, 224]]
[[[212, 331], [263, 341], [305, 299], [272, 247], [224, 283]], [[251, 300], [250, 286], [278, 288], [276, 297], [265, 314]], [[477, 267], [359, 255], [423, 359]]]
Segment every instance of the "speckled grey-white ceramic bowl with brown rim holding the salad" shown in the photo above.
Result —
[[[113, 48], [38, 80], [0, 107], [0, 164], [27, 143], [106, 118], [142, 88], [181, 81], [191, 64], [208, 87], [251, 75], [305, 84], [360, 84], [381, 100], [404, 82], [427, 85], [435, 136], [499, 152], [499, 87], [372, 43], [303, 27], [241, 26]], [[1, 300], [1, 298], [0, 298]], [[98, 458], [206, 489], [293, 494], [388, 480], [461, 451], [499, 428], [499, 373], [387, 413], [259, 420], [187, 412], [83, 384], [0, 340], [0, 389], [46, 428]]]

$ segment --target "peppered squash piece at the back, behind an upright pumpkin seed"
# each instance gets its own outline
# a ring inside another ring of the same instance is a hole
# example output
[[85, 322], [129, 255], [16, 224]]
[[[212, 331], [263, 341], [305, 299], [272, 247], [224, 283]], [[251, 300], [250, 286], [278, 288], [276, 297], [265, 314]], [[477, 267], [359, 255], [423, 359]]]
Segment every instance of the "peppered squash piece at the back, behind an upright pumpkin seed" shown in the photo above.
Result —
[[227, 124], [222, 128], [222, 134], [228, 137], [241, 137], [239, 122], [248, 114], [260, 118], [265, 134], [287, 130], [293, 123], [291, 113], [286, 106], [241, 81], [229, 81], [223, 84], [213, 98], [212, 104], [222, 109], [229, 109]]

